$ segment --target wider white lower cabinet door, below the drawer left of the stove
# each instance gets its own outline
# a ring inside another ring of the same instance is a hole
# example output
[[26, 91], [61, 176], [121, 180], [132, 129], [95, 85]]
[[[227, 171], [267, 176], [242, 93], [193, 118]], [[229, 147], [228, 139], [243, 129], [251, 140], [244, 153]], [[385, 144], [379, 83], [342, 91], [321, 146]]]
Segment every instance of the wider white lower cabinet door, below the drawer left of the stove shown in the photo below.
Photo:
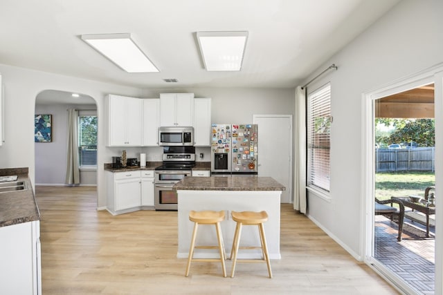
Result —
[[140, 178], [129, 178], [116, 181], [116, 211], [140, 207]]

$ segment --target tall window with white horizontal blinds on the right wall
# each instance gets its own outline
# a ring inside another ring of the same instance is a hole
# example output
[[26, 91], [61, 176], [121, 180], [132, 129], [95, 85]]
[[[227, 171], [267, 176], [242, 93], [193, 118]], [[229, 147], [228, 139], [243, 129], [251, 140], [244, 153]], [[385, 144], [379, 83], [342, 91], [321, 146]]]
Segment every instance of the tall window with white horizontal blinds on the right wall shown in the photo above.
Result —
[[330, 84], [309, 94], [307, 100], [308, 186], [329, 191]]

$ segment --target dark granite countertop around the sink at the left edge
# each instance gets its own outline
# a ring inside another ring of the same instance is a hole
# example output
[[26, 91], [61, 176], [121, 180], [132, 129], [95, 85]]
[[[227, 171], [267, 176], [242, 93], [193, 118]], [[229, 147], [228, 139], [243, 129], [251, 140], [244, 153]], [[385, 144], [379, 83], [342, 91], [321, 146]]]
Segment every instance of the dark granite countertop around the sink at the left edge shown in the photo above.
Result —
[[0, 169], [0, 176], [6, 175], [17, 175], [17, 181], [25, 182], [28, 189], [0, 193], [0, 227], [40, 220], [39, 208], [28, 178], [28, 168]]

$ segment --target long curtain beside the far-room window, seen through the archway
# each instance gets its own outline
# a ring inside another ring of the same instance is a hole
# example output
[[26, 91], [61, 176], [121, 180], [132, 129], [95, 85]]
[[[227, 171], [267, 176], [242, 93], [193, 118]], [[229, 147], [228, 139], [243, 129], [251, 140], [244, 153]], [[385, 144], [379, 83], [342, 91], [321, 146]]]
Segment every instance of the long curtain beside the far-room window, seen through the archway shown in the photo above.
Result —
[[77, 139], [78, 111], [68, 110], [68, 128], [66, 131], [66, 184], [80, 184], [78, 169], [78, 139]]

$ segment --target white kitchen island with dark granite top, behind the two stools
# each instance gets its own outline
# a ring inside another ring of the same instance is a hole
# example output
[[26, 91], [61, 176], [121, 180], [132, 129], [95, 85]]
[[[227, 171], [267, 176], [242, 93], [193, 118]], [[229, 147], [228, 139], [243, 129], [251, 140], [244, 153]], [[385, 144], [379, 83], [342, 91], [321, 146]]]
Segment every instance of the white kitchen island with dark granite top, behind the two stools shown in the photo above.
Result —
[[[269, 251], [269, 258], [280, 259], [280, 195], [285, 187], [269, 177], [186, 177], [174, 185], [178, 194], [179, 245], [178, 258], [188, 258], [190, 239], [194, 223], [189, 220], [190, 210], [225, 211], [225, 220], [221, 222], [226, 254], [229, 256], [235, 232], [235, 222], [231, 211], [266, 211], [269, 220], [264, 223], [264, 231]], [[198, 245], [217, 243], [215, 228], [199, 227]], [[260, 245], [260, 236], [255, 226], [242, 229], [240, 246]], [[217, 257], [218, 253], [206, 249], [195, 252], [195, 258]], [[257, 258], [257, 251], [239, 251], [239, 258]]]

